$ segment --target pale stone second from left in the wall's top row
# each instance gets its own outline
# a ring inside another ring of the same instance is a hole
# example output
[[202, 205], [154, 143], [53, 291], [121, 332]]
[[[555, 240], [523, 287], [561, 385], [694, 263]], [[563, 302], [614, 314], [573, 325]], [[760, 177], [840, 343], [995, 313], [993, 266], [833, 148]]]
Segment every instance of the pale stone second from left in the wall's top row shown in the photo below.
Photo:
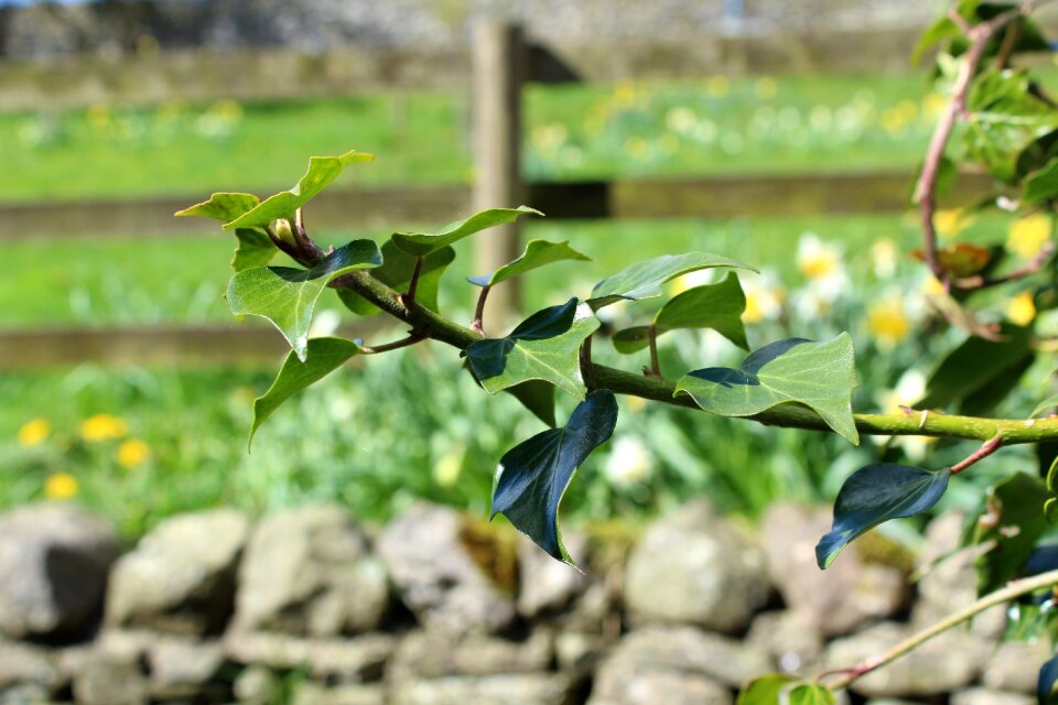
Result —
[[246, 517], [230, 509], [162, 522], [115, 565], [107, 623], [196, 636], [220, 631], [231, 615], [248, 533]]

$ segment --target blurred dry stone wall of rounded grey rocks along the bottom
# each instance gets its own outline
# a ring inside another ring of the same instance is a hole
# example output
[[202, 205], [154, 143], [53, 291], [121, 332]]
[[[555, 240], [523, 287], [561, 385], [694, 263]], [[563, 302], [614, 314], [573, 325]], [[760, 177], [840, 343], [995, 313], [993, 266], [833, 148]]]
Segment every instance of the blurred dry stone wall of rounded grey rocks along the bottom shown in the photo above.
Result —
[[[568, 531], [579, 573], [428, 505], [381, 528], [333, 506], [202, 511], [121, 555], [85, 511], [28, 507], [0, 516], [0, 703], [732, 705], [748, 679], [848, 666], [973, 599], [960, 557], [916, 589], [911, 563], [859, 545], [820, 575], [828, 522], [779, 505], [755, 530], [692, 502], [630, 545]], [[959, 528], [935, 521], [930, 551]], [[855, 696], [1027, 705], [1049, 651], [1001, 643], [1004, 619]]]

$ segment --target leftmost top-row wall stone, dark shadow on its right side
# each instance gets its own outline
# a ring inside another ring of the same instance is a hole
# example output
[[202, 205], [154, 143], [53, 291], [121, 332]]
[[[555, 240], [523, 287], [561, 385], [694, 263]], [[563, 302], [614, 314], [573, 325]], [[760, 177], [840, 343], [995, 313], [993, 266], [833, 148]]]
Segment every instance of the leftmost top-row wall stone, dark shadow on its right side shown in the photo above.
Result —
[[0, 516], [0, 634], [69, 639], [98, 621], [114, 530], [76, 505]]

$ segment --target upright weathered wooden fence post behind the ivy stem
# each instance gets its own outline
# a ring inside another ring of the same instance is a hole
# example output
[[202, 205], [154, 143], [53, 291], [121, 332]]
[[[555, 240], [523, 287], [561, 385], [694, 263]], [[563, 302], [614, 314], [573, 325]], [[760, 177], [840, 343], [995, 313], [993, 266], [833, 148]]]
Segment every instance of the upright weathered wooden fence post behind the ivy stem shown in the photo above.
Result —
[[[521, 86], [527, 51], [521, 28], [498, 20], [479, 20], [474, 26], [474, 208], [512, 208], [521, 205]], [[474, 253], [475, 274], [485, 274], [520, 254], [519, 227], [505, 225], [484, 232]], [[485, 329], [501, 333], [518, 314], [518, 280], [490, 292]]]

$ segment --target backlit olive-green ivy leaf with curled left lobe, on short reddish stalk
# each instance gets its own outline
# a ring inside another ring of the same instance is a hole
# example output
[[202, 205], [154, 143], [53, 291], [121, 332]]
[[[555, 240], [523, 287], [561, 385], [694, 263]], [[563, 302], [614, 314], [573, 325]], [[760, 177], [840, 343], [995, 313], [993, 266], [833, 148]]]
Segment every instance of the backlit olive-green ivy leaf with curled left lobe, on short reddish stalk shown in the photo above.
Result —
[[[746, 310], [746, 295], [738, 283], [738, 275], [728, 272], [719, 284], [705, 284], [689, 289], [674, 296], [654, 317], [657, 335], [678, 328], [712, 328], [744, 350], [746, 329], [742, 313]], [[638, 326], [619, 330], [614, 336], [618, 352], [635, 352], [649, 344], [650, 327]]]

